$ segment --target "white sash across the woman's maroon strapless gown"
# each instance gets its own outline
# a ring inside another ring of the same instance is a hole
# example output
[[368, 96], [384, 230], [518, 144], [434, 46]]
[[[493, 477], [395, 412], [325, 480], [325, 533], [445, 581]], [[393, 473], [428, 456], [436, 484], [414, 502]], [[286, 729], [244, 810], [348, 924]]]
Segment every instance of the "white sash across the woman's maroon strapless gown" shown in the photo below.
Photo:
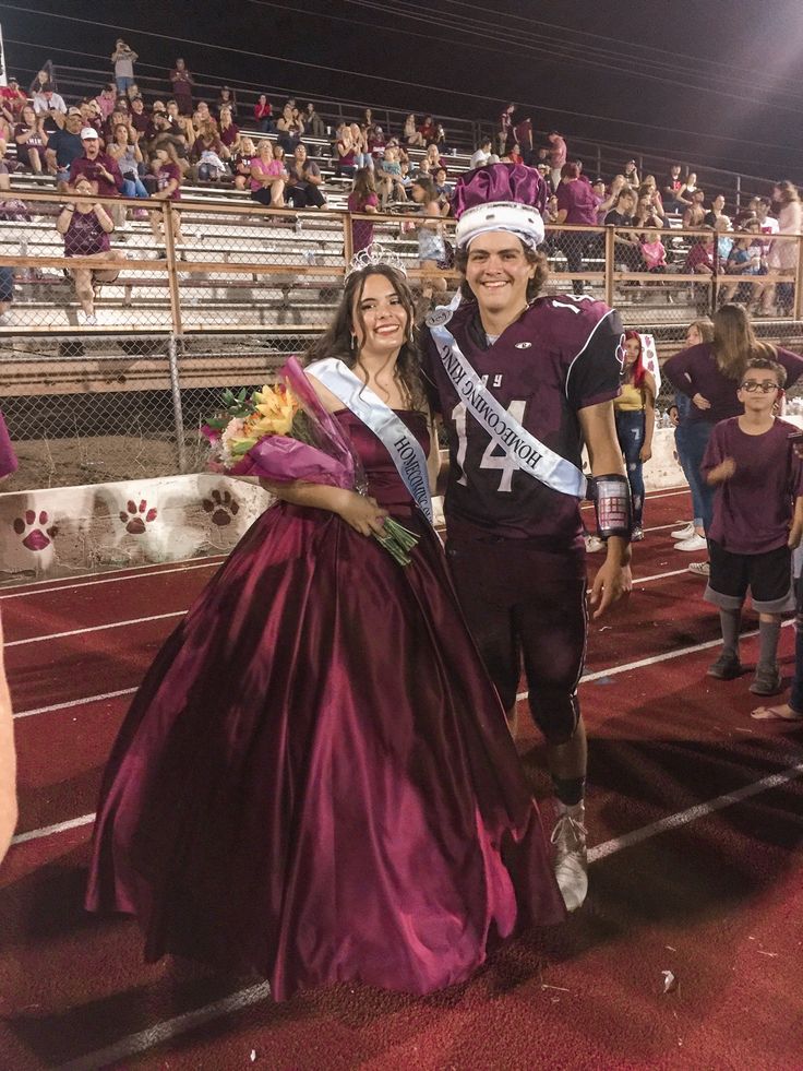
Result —
[[427, 457], [405, 423], [337, 357], [313, 361], [304, 371], [332, 391], [382, 441], [405, 487], [430, 524], [433, 524]]

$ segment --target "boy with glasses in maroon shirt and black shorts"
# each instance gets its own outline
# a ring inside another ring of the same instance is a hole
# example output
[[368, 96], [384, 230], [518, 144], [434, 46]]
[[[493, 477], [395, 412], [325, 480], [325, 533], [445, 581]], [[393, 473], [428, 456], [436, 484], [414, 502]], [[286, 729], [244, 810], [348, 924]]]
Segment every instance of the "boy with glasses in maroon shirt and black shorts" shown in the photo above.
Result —
[[742, 673], [739, 630], [750, 588], [759, 621], [750, 686], [756, 695], [780, 691], [781, 615], [794, 609], [792, 549], [803, 535], [803, 463], [789, 441], [798, 429], [776, 417], [786, 381], [777, 361], [748, 360], [738, 391], [744, 412], [716, 425], [700, 466], [717, 488], [705, 598], [719, 608], [722, 627], [722, 652], [708, 676], [732, 680]]

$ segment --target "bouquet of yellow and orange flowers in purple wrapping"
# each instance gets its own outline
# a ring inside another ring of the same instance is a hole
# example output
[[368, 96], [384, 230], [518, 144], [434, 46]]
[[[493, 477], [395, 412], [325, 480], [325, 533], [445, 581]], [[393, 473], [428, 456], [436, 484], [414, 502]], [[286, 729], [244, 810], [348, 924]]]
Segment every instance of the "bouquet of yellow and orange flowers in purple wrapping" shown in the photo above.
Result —
[[[212, 444], [208, 467], [230, 476], [261, 476], [275, 484], [302, 480], [368, 495], [368, 480], [340, 425], [324, 408], [291, 357], [275, 386], [252, 394], [225, 391], [221, 408], [201, 433]], [[374, 538], [400, 564], [409, 566], [418, 536], [385, 517]]]

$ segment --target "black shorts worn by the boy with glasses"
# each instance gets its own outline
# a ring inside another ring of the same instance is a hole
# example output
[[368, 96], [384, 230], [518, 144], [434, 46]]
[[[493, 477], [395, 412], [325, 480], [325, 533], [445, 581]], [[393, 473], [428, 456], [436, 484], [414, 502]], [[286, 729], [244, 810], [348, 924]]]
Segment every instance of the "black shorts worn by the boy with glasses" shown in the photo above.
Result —
[[711, 571], [706, 600], [726, 610], [736, 610], [747, 590], [753, 609], [759, 614], [782, 614], [794, 609], [792, 551], [778, 547], [762, 555], [739, 555], [708, 542]]

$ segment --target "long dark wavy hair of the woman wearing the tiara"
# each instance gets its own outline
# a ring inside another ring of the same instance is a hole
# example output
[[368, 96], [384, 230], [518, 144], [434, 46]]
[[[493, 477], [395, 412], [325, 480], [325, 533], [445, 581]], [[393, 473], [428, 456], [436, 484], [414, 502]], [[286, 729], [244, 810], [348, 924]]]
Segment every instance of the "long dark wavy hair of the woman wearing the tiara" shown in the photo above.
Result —
[[364, 333], [364, 322], [360, 311], [360, 299], [365, 288], [365, 279], [371, 275], [382, 275], [391, 283], [407, 313], [407, 335], [396, 358], [396, 379], [408, 398], [412, 409], [427, 409], [427, 397], [421, 385], [421, 358], [415, 333], [416, 308], [409, 283], [395, 267], [388, 264], [372, 264], [352, 272], [343, 288], [343, 298], [326, 331], [312, 343], [303, 356], [303, 364], [323, 360], [325, 357], [339, 357], [349, 368], [360, 366], [360, 353], [353, 340], [357, 328]]

